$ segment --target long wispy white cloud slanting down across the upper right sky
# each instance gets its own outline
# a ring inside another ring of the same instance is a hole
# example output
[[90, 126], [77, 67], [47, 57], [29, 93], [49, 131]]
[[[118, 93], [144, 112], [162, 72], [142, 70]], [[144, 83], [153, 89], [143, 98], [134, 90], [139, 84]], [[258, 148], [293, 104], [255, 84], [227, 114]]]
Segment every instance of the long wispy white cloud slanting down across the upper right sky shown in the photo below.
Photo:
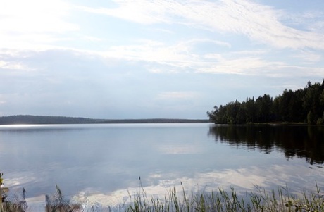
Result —
[[205, 30], [232, 32], [276, 48], [324, 49], [324, 35], [280, 23], [282, 11], [253, 1], [115, 1], [117, 8], [85, 8], [142, 24], [178, 23]]

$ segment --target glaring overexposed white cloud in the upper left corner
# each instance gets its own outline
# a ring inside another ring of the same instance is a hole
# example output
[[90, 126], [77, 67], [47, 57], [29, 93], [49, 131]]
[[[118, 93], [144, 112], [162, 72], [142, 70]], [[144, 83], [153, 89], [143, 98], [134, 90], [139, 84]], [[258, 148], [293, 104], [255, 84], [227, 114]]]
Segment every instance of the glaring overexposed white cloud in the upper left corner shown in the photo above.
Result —
[[70, 5], [64, 1], [4, 1], [0, 4], [1, 48], [35, 48], [58, 40], [56, 35], [77, 30], [68, 23]]

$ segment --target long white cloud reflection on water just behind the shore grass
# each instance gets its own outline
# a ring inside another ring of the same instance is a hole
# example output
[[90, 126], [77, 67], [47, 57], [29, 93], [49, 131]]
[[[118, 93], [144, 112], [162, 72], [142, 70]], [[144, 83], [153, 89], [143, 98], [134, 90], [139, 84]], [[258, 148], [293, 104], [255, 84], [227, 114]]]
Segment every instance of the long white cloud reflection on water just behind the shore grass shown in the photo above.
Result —
[[[251, 191], [256, 189], [256, 186], [263, 187], [266, 190], [278, 189], [278, 187], [288, 186], [289, 189], [295, 192], [304, 192], [304, 189], [315, 188], [317, 182], [319, 187], [323, 187], [324, 183], [320, 181], [324, 175], [322, 169], [310, 170], [304, 166], [287, 166], [274, 165], [268, 167], [239, 168], [237, 170], [213, 170], [206, 173], [197, 173], [194, 177], [174, 177], [170, 179], [170, 173], [152, 173], [148, 179], [142, 179], [142, 182], [149, 182], [152, 179], [160, 179], [157, 185], [149, 185], [143, 187], [147, 197], [158, 197], [163, 199], [168, 197], [169, 189], [175, 187], [181, 195], [182, 185], [187, 194], [197, 192], [204, 189], [206, 192], [218, 191], [218, 188], [225, 190], [234, 187], [237, 193]], [[168, 179], [168, 180], [166, 180]], [[182, 184], [182, 185], [181, 185]], [[110, 194], [98, 194], [80, 192], [75, 197], [74, 201], [87, 202], [91, 204], [103, 204], [116, 206], [132, 201], [130, 197], [139, 194], [138, 187], [130, 187], [127, 189], [119, 189]]]

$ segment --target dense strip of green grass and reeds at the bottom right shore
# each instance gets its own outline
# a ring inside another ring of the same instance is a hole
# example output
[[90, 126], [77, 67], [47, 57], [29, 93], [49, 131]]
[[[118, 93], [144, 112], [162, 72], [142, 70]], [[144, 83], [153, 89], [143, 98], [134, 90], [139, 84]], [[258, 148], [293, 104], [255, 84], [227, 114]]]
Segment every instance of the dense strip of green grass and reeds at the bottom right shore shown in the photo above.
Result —
[[230, 192], [218, 189], [215, 192], [186, 194], [170, 189], [164, 199], [148, 197], [144, 189], [132, 197], [127, 212], [207, 212], [207, 211], [324, 211], [324, 199], [316, 185], [316, 192], [289, 194], [287, 187], [267, 192], [256, 187], [256, 192], [237, 195], [234, 188]]

